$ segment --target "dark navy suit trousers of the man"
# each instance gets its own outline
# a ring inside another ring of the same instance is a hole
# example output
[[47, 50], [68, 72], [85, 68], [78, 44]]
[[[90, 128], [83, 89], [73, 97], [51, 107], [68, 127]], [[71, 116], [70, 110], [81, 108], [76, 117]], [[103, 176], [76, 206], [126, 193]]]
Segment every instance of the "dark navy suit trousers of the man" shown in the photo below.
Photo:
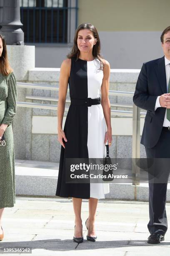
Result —
[[153, 148], [146, 148], [146, 156], [153, 160], [148, 169], [149, 178], [149, 216], [150, 234], [165, 235], [168, 229], [166, 215], [166, 193], [170, 174], [170, 131], [161, 132], [158, 143]]

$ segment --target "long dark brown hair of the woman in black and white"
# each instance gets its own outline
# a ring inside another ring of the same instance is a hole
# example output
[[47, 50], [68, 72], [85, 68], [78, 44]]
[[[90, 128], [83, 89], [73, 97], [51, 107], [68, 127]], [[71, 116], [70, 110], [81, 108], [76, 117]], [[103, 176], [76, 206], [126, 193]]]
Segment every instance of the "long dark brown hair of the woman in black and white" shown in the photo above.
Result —
[[67, 55], [67, 58], [69, 59], [76, 58], [76, 60], [79, 58], [80, 50], [78, 49], [78, 46], [77, 46], [77, 37], [78, 37], [78, 32], [82, 29], [89, 29], [90, 31], [92, 31], [94, 38], [97, 40], [97, 43], [93, 46], [92, 55], [100, 61], [100, 69], [103, 69], [104, 64], [101, 59], [102, 56], [100, 55], [100, 38], [97, 32], [97, 29], [95, 28], [95, 26], [93, 26], [90, 23], [82, 23], [76, 29], [75, 37], [74, 37], [74, 45], [72, 47], [70, 54]]

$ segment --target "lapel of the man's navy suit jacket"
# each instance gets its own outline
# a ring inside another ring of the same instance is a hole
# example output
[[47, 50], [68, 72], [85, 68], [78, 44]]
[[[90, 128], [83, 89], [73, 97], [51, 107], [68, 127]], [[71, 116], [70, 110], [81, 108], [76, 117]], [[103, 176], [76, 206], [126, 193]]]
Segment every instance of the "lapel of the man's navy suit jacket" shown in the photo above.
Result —
[[167, 93], [167, 82], [165, 72], [165, 57], [160, 58], [155, 64], [156, 74], [160, 83], [163, 93]]

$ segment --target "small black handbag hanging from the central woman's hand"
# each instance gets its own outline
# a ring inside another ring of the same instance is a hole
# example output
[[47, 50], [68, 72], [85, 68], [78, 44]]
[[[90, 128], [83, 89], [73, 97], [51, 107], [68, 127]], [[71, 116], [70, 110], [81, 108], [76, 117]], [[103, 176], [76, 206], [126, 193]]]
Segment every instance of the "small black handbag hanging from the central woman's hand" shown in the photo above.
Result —
[[[106, 146], [106, 157], [104, 159], [104, 170], [103, 170], [103, 175], [106, 176], [102, 178], [103, 181], [112, 181], [114, 178], [113, 178], [113, 166], [111, 167], [112, 165], [112, 161], [110, 159], [110, 156], [109, 156], [109, 145], [105, 145]], [[106, 171], [105, 169], [107, 169], [108, 171]]]

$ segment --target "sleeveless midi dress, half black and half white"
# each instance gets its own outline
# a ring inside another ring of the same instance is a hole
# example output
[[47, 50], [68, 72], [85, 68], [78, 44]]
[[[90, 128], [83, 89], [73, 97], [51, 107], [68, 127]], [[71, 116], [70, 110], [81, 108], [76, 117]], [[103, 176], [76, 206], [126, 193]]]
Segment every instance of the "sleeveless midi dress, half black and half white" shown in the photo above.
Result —
[[[71, 59], [69, 77], [70, 99], [96, 99], [100, 97], [103, 71], [100, 61]], [[66, 183], [65, 159], [67, 158], [104, 158], [106, 123], [101, 104], [70, 105], [64, 126], [67, 142], [61, 146], [60, 165], [56, 195], [102, 199], [109, 193], [109, 184], [103, 183]], [[70, 171], [70, 170], [69, 170]]]

